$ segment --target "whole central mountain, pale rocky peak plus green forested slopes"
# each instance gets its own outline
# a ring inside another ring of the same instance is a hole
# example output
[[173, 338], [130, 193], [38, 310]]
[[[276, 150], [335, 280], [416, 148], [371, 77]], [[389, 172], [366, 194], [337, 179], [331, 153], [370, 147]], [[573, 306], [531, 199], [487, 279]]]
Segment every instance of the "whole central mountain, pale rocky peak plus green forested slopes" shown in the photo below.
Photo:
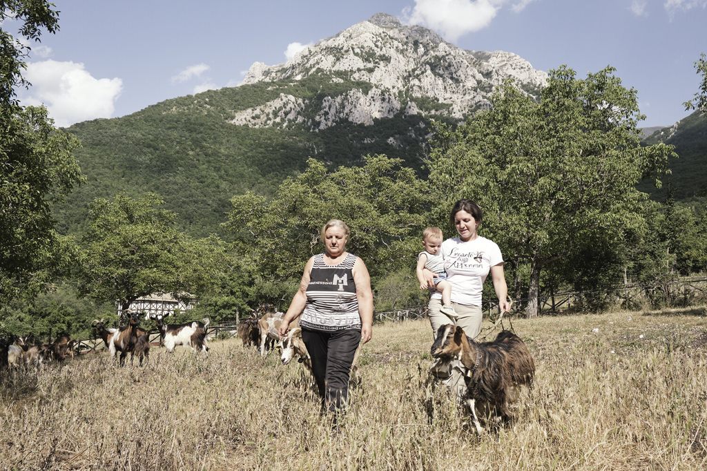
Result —
[[285, 64], [256, 62], [241, 86], [70, 127], [88, 182], [56, 208], [59, 230], [83, 233], [96, 197], [152, 191], [185, 231], [220, 232], [231, 197], [273, 194], [309, 157], [335, 167], [385, 153], [421, 170], [431, 120], [461, 122], [508, 79], [537, 97], [547, 74], [377, 14]]

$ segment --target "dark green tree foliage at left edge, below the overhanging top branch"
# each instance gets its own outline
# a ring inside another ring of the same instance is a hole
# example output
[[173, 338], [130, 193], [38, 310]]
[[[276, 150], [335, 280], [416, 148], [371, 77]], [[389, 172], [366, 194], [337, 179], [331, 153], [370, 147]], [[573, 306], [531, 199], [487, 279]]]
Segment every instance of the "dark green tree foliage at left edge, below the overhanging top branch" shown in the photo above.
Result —
[[45, 286], [62, 255], [51, 205], [81, 182], [78, 141], [47, 110], [16, 107], [0, 133], [0, 304]]

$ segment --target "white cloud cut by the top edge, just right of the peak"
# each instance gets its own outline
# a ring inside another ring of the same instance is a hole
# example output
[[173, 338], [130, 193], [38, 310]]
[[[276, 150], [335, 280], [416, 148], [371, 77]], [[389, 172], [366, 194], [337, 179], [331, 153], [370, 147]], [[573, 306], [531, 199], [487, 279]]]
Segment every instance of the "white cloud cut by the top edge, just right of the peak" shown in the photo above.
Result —
[[[532, 1], [515, 0], [510, 8], [520, 13]], [[498, 10], [509, 3], [511, 0], [415, 0], [413, 8], [404, 8], [402, 17], [408, 24], [426, 26], [454, 42], [486, 28]]]

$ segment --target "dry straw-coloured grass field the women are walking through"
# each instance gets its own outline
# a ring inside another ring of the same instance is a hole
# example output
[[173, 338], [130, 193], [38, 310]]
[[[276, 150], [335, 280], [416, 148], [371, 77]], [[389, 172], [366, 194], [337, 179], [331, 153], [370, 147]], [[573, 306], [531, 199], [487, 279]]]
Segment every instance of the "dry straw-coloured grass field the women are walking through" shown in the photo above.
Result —
[[208, 357], [153, 348], [145, 368], [117, 368], [102, 353], [37, 375], [4, 372], [0, 466], [705, 469], [706, 315], [515, 320], [537, 364], [535, 387], [513, 426], [480, 437], [443, 389], [426, 400], [426, 321], [375, 326], [363, 387], [339, 429], [320, 416], [300, 365], [260, 359], [235, 339], [211, 342]]

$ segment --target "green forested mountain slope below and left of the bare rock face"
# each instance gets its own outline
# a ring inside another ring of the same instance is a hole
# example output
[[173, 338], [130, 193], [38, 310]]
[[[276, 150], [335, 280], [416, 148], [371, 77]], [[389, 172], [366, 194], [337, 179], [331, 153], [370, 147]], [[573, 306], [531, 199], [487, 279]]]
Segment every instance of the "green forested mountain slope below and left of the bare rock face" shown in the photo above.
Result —
[[[86, 185], [57, 208], [60, 231], [82, 232], [88, 204], [117, 192], [157, 192], [183, 228], [201, 236], [218, 231], [234, 194], [271, 194], [308, 157], [333, 165], [356, 164], [368, 153], [402, 158], [419, 168], [428, 120], [396, 115], [373, 126], [342, 122], [317, 132], [301, 126], [248, 127], [233, 113], [287, 93], [300, 98], [336, 96], [365, 83], [310, 76], [296, 83], [256, 83], [158, 103], [122, 118], [82, 122], [68, 130]], [[419, 134], [410, 132], [419, 129]], [[389, 143], [388, 138], [397, 140]]]

